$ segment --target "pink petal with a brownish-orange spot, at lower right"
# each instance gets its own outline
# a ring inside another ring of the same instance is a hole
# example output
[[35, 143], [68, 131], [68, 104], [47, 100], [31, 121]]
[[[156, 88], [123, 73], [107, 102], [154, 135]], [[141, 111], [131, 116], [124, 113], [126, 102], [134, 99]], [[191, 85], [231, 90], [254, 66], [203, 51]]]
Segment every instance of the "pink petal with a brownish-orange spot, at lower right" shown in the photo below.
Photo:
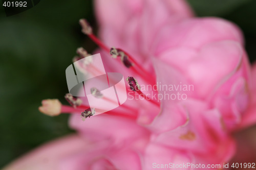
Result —
[[[195, 100], [186, 100], [181, 102], [180, 105], [183, 106], [188, 114], [187, 123], [176, 129], [160, 133], [155, 140], [158, 143], [176, 149], [207, 152], [208, 148], [215, 145], [209, 140], [207, 130], [201, 118], [201, 114], [207, 109], [207, 105]], [[175, 110], [170, 110], [169, 114], [178, 115], [179, 113], [175, 112]], [[172, 119], [166, 119], [162, 124], [167, 124], [170, 121]]]

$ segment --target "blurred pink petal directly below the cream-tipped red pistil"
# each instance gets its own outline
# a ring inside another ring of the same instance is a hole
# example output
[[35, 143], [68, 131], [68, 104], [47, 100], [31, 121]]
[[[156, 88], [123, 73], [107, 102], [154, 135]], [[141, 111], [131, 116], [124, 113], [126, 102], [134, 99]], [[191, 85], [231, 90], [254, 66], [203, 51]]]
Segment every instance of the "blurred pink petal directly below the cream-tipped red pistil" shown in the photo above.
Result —
[[[69, 124], [90, 140], [109, 139], [120, 146], [130, 147], [131, 143], [136, 145], [149, 137], [149, 132], [137, 125], [134, 120], [115, 115], [100, 114], [83, 122], [79, 115], [74, 114], [70, 117]], [[142, 148], [143, 145], [138, 144], [138, 150]]]

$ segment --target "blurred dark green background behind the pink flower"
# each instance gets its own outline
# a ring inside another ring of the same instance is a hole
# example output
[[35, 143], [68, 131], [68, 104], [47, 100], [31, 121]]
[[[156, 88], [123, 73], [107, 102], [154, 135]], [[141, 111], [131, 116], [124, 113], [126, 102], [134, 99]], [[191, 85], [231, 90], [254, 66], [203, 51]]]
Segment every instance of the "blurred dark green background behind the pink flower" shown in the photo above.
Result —
[[[198, 16], [219, 16], [244, 32], [251, 62], [256, 56], [256, 1], [189, 0]], [[0, 168], [51, 139], [73, 133], [68, 115], [39, 113], [42, 99], [68, 92], [65, 70], [76, 48], [96, 45], [80, 32], [78, 20], [94, 27], [93, 2], [44, 0], [23, 13], [6, 17], [0, 7]]]

